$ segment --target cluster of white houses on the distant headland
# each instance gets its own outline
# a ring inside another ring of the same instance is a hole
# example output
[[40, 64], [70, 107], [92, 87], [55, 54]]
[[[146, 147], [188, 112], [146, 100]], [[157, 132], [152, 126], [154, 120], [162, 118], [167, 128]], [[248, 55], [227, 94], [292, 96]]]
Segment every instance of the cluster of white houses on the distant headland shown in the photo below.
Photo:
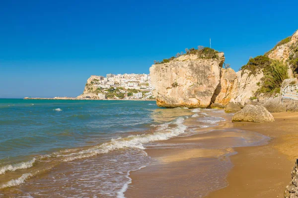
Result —
[[[123, 88], [120, 90], [125, 99], [150, 99], [153, 97], [152, 90], [155, 88], [151, 85], [149, 74], [107, 74], [104, 76], [91, 76], [92, 86], [103, 89], [103, 93], [98, 94], [99, 99], [106, 99], [108, 93], [105, 89]], [[129, 89], [140, 90], [132, 96], [128, 96]], [[117, 98], [117, 97], [116, 97]]]

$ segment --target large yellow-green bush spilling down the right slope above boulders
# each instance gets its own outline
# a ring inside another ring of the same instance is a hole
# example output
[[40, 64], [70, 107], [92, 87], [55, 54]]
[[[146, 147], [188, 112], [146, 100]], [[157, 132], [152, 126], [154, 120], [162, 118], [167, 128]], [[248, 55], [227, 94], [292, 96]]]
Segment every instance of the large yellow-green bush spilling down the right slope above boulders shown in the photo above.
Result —
[[260, 93], [279, 93], [283, 81], [289, 78], [288, 66], [282, 61], [273, 60], [271, 64], [264, 68], [263, 84], [258, 90]]

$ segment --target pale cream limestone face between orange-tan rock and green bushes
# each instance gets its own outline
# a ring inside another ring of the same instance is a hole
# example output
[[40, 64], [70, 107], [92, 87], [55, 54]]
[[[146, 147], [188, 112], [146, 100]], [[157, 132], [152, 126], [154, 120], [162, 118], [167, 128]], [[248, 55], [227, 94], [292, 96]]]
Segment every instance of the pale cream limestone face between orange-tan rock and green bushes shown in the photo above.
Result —
[[259, 71], [255, 75], [249, 70], [240, 70], [237, 72], [238, 78], [238, 93], [236, 102], [245, 104], [247, 99], [254, 96], [254, 93], [260, 88], [261, 78], [264, 76], [262, 71]]

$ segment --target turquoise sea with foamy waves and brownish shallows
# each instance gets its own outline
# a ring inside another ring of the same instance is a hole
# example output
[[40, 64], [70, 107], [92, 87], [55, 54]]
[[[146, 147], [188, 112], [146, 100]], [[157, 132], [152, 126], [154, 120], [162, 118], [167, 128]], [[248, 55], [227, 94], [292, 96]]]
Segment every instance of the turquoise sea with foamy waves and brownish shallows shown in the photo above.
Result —
[[[155, 101], [0, 99], [0, 197], [124, 198], [130, 171], [152, 162], [146, 147], [211, 132], [224, 116]], [[244, 139], [235, 146], [264, 137]]]

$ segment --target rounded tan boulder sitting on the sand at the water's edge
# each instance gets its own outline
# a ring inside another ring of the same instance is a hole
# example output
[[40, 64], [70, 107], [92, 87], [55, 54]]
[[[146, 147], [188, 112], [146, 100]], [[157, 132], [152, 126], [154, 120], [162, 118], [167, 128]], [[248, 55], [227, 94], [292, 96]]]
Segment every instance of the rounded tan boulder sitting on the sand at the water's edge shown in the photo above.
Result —
[[235, 113], [232, 122], [274, 122], [272, 114], [264, 106], [248, 104]]

